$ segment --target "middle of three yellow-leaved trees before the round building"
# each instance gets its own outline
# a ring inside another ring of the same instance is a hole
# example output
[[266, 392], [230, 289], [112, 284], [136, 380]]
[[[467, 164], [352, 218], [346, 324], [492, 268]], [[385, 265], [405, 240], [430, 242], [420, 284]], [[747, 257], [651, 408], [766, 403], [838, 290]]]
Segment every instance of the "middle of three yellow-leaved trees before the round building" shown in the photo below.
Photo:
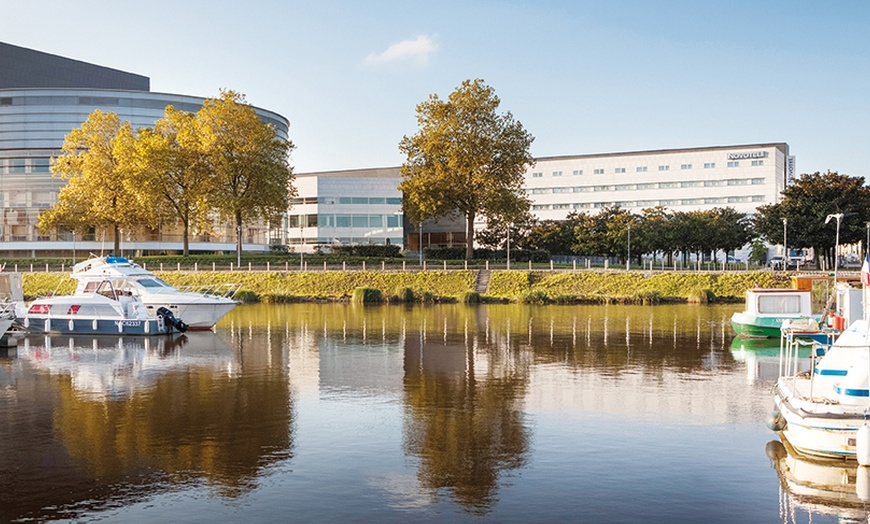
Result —
[[200, 129], [194, 113], [168, 106], [153, 128], [139, 130], [134, 154], [124, 164], [140, 202], [151, 211], [151, 225], [164, 217], [181, 222], [184, 256], [190, 253], [191, 227], [206, 222], [215, 186]]

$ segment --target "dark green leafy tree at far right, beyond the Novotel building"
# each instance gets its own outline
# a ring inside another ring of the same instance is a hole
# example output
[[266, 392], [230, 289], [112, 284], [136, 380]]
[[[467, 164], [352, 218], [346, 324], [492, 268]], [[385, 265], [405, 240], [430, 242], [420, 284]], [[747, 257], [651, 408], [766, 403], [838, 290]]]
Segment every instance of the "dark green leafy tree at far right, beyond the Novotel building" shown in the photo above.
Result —
[[789, 247], [812, 247], [817, 258], [822, 253], [831, 256], [837, 224], [835, 220], [826, 224], [825, 218], [837, 213], [845, 215], [840, 223], [841, 244], [865, 238], [865, 224], [870, 221], [870, 189], [864, 185], [864, 177], [836, 171], [801, 175], [783, 190], [781, 201], [758, 208], [754, 226], [768, 242], [782, 244], [782, 221], [788, 219]]

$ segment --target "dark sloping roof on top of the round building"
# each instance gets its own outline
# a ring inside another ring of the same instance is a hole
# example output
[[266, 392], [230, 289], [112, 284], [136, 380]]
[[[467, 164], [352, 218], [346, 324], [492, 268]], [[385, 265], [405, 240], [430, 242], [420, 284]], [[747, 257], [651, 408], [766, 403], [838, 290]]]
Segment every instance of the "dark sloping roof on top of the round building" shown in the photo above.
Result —
[[0, 42], [0, 89], [47, 87], [150, 91], [151, 79]]

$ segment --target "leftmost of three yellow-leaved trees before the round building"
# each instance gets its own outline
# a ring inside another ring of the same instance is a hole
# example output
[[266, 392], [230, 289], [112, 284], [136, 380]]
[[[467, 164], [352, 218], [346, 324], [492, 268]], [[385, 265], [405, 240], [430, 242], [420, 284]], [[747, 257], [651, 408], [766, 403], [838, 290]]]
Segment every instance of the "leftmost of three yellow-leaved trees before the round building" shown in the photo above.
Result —
[[68, 183], [61, 188], [57, 204], [39, 217], [39, 231], [108, 227], [114, 233], [114, 253], [120, 254], [121, 230], [135, 227], [145, 217], [135, 184], [121, 168], [134, 143], [132, 125], [115, 113], [96, 110], [88, 115], [81, 127], [65, 137], [63, 153], [52, 161], [52, 175]]

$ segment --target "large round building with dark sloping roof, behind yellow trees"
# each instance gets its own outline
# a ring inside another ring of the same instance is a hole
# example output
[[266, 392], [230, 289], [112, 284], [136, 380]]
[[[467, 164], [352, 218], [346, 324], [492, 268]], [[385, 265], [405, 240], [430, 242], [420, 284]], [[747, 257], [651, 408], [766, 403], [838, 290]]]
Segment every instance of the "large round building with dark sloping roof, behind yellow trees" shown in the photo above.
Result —
[[[150, 80], [69, 58], [0, 43], [0, 256], [86, 253], [111, 248], [111, 231], [94, 231], [86, 238], [71, 233], [41, 236], [39, 214], [57, 201], [66, 182], [53, 178], [51, 158], [61, 154], [64, 137], [81, 126], [94, 110], [116, 113], [133, 127], [150, 127], [167, 105], [195, 112], [205, 98], [153, 93]], [[287, 138], [283, 116], [255, 108], [260, 118]], [[266, 251], [270, 243], [286, 243], [284, 228], [246, 224], [243, 249]], [[234, 251], [235, 231], [218, 220], [209, 231], [190, 239], [190, 250]], [[182, 249], [177, 224], [157, 230], [125, 233], [121, 246], [131, 252], [173, 252]]]

